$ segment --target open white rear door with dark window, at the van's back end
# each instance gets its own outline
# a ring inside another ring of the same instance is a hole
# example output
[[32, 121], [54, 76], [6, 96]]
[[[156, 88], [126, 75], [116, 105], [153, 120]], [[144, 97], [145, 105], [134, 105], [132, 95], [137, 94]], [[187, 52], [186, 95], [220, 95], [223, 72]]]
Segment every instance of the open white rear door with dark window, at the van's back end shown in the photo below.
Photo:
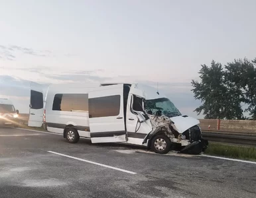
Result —
[[31, 104], [29, 105], [29, 126], [41, 127], [44, 111], [43, 86], [31, 82]]

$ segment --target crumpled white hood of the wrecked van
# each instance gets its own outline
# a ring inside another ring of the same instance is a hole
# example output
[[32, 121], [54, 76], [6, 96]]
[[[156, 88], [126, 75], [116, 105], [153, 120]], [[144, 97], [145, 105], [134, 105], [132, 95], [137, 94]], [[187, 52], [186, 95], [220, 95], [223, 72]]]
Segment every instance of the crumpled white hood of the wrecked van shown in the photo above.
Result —
[[189, 116], [176, 116], [170, 117], [170, 119], [174, 122], [176, 129], [178, 129], [178, 133], [183, 133], [190, 127], [200, 124], [198, 119]]

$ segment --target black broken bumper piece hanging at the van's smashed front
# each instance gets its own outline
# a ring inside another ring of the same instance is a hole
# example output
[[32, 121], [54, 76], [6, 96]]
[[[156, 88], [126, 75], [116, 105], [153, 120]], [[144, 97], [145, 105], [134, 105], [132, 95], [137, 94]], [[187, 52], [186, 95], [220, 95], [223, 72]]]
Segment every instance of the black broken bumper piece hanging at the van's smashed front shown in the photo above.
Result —
[[184, 147], [184, 149], [180, 150], [180, 153], [184, 154], [200, 154], [204, 152], [208, 147], [208, 141], [202, 139], [201, 141], [194, 141], [190, 145]]

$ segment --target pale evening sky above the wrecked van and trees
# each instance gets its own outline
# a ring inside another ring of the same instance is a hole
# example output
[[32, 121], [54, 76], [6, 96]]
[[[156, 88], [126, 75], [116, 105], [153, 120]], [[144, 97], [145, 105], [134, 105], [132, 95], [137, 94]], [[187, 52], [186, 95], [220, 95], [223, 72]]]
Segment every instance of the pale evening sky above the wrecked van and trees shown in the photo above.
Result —
[[202, 64], [256, 57], [256, 1], [0, 0], [0, 98], [29, 112], [31, 81], [142, 82], [188, 116]]

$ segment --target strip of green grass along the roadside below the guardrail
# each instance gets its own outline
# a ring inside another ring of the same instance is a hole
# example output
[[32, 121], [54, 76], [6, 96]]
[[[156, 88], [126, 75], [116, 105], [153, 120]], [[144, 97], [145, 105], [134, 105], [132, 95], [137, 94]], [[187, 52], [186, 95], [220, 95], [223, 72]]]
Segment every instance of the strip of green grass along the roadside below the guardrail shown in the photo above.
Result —
[[222, 143], [209, 143], [208, 149], [206, 149], [204, 153], [214, 156], [256, 161], [255, 147], [241, 147], [235, 145], [224, 145]]

